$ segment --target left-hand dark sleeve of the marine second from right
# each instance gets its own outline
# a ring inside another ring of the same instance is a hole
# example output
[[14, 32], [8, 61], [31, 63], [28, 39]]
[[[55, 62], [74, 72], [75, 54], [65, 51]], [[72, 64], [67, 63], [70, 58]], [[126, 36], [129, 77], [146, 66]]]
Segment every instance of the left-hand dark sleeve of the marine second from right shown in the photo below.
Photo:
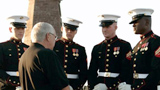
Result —
[[96, 57], [96, 49], [95, 47], [92, 50], [91, 54], [91, 62], [89, 66], [89, 71], [88, 71], [88, 85], [90, 90], [93, 89], [93, 87], [97, 84], [97, 70], [98, 70], [98, 65], [97, 65], [97, 60], [98, 58]]

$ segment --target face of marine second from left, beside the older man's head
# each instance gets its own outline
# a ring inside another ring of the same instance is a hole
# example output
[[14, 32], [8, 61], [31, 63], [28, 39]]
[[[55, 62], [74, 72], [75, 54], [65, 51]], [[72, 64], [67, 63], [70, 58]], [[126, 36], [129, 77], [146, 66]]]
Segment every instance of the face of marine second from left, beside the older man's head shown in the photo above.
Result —
[[70, 30], [64, 27], [64, 29], [62, 28], [62, 37], [67, 39], [67, 40], [73, 40], [74, 36], [77, 33], [77, 30]]

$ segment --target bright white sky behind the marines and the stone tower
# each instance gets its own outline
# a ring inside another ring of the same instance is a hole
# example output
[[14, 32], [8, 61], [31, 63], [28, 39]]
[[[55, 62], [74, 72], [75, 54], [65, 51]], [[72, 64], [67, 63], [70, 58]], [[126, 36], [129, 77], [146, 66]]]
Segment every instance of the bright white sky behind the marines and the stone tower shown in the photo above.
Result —
[[[135, 35], [128, 11], [135, 8], [152, 8], [152, 30], [160, 35], [160, 0], [62, 0], [62, 17], [72, 17], [83, 22], [78, 29], [74, 41], [86, 47], [88, 59], [94, 45], [104, 40], [97, 16], [100, 14], [116, 14], [118, 20], [117, 36], [131, 43], [132, 47], [140, 40]], [[6, 17], [9, 15], [27, 15], [28, 0], [2, 0], [0, 3], [0, 42], [9, 39]]]

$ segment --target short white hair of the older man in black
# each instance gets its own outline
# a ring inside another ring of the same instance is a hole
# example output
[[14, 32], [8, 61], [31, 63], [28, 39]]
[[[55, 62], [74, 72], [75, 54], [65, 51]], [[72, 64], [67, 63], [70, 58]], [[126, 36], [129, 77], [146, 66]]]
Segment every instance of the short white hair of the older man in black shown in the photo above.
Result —
[[52, 33], [56, 36], [56, 31], [51, 24], [46, 22], [37, 23], [31, 32], [32, 42], [42, 42], [47, 33]]

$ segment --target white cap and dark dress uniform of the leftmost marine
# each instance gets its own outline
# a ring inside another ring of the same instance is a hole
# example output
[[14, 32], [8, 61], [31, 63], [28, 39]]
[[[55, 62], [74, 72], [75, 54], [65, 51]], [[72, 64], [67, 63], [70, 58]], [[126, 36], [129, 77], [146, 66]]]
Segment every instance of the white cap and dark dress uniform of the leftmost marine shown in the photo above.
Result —
[[[11, 16], [8, 20], [14, 27], [26, 28], [28, 17]], [[20, 85], [18, 63], [27, 48], [28, 45], [15, 38], [0, 43], [0, 82], [5, 84], [1, 90], [15, 90]]]

